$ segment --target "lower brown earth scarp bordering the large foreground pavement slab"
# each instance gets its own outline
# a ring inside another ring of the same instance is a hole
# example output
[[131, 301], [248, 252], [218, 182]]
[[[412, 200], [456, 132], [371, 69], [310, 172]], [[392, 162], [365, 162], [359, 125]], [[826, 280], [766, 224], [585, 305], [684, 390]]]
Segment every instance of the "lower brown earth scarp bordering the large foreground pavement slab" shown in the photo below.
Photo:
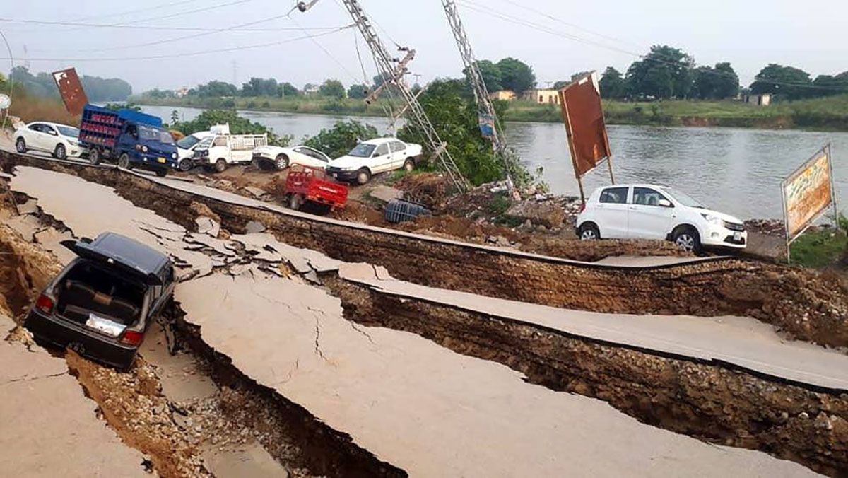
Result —
[[323, 280], [342, 298], [345, 316], [364, 325], [503, 363], [534, 384], [599, 398], [650, 425], [761, 450], [826, 475], [848, 470], [846, 396]]

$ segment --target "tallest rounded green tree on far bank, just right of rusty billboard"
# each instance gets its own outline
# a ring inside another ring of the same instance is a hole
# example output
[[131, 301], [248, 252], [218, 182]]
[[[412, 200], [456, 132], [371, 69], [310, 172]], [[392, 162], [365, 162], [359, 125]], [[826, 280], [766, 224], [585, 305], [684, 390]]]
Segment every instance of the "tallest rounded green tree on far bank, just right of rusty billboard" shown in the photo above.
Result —
[[655, 45], [628, 68], [625, 82], [634, 97], [687, 98], [695, 60], [679, 48]]

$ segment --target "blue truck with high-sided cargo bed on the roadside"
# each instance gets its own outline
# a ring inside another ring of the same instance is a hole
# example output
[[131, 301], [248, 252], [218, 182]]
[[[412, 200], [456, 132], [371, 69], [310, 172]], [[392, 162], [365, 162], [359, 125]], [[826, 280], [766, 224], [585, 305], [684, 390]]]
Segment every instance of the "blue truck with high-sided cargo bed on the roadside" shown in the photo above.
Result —
[[176, 143], [162, 127], [162, 119], [138, 111], [87, 104], [82, 111], [80, 144], [88, 149], [88, 160], [94, 165], [115, 160], [120, 167], [146, 169], [159, 177], [178, 165]]

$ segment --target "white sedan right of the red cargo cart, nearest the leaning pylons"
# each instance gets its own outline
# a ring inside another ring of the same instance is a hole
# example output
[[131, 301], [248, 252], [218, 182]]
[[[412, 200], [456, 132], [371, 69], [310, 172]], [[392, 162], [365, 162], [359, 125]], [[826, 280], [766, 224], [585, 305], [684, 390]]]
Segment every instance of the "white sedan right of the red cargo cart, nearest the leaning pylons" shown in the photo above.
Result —
[[339, 181], [365, 184], [378, 172], [412, 171], [421, 157], [421, 145], [396, 138], [363, 141], [341, 158], [330, 161], [326, 172]]

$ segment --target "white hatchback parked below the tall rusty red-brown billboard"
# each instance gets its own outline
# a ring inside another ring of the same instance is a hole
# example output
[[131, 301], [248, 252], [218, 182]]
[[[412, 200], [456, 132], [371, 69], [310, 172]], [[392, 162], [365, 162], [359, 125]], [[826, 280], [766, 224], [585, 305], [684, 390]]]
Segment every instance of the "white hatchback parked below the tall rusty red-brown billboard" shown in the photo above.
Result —
[[744, 249], [742, 221], [654, 184], [616, 184], [595, 189], [577, 216], [580, 239], [667, 239], [685, 250]]

